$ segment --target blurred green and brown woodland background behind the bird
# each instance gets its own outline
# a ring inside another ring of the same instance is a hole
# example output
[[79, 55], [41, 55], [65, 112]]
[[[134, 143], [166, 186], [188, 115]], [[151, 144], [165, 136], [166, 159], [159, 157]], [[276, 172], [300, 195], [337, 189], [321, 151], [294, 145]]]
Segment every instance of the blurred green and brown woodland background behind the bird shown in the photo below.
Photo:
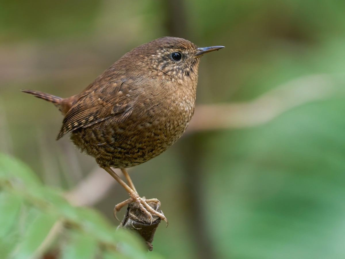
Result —
[[[127, 51], [162, 36], [224, 45], [201, 60], [199, 107], [268, 98], [249, 110], [257, 116], [238, 111], [246, 123], [193, 128], [130, 170], [139, 194], [158, 198], [169, 220], [152, 253], [345, 258], [344, 13], [337, 0], [1, 0], [0, 152], [46, 185], [74, 190], [97, 170], [94, 159], [68, 137], [56, 142], [59, 111], [19, 89], [77, 94]], [[260, 121], [267, 111], [275, 116]], [[112, 209], [125, 199], [114, 185], [90, 205], [117, 225]]]

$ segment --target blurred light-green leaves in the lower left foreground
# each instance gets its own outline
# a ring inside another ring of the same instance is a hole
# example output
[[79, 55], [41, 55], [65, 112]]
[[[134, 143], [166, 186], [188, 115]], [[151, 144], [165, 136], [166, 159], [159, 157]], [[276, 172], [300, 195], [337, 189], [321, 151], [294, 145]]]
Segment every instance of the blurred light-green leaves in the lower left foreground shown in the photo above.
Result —
[[[70, 205], [24, 164], [0, 153], [0, 254], [37, 258], [158, 258], [144, 242], [97, 212]], [[150, 256], [150, 257], [149, 257]]]

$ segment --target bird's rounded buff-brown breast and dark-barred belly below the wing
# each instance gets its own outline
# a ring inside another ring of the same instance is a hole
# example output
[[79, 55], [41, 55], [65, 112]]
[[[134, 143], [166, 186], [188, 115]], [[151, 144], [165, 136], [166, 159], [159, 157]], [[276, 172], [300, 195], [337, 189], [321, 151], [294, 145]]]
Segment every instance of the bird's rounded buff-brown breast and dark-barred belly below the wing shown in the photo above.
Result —
[[164, 152], [185, 132], [194, 113], [195, 94], [162, 89], [138, 97], [124, 114], [73, 131], [72, 141], [101, 166], [129, 167]]

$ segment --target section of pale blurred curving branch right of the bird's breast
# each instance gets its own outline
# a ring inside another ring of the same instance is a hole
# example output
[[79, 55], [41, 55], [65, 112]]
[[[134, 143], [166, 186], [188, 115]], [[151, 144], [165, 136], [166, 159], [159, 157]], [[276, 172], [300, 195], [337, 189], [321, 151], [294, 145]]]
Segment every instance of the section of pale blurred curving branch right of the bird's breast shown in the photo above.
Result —
[[199, 105], [186, 132], [257, 126], [271, 121], [289, 109], [325, 99], [334, 93], [334, 83], [327, 75], [300, 77], [251, 102]]

